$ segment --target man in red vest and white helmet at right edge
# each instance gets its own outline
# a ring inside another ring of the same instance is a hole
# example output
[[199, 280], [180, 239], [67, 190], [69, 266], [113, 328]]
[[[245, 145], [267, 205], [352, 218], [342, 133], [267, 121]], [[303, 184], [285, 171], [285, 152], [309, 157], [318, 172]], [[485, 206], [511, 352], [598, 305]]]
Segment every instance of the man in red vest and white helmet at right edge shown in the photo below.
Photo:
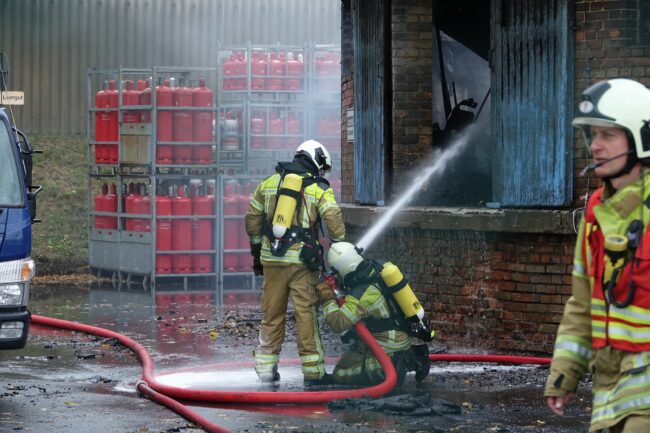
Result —
[[573, 262], [572, 294], [546, 383], [558, 415], [593, 372], [590, 431], [650, 432], [650, 90], [628, 79], [582, 94], [582, 129], [603, 180], [589, 198]]

